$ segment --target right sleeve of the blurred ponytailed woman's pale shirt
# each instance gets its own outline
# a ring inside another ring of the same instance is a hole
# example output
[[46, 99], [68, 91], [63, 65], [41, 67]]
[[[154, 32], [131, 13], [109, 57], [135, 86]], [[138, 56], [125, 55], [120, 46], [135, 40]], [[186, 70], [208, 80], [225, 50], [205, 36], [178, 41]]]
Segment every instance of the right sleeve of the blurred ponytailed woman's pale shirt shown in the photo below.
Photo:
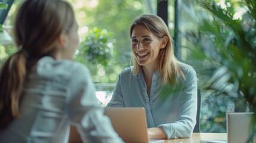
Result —
[[78, 65], [67, 87], [67, 114], [83, 142], [122, 142], [95, 97], [90, 72]]

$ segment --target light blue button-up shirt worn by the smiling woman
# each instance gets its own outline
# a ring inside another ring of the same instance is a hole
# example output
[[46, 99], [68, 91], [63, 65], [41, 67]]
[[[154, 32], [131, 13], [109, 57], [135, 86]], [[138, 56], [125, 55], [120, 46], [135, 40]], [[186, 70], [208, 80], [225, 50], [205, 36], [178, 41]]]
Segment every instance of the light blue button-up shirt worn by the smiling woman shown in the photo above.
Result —
[[144, 107], [147, 128], [162, 127], [168, 139], [189, 138], [196, 125], [197, 77], [189, 65], [179, 63], [179, 66], [185, 79], [179, 77], [178, 85], [165, 85], [164, 90], [158, 71], [153, 73], [150, 97], [143, 71], [132, 76], [132, 67], [124, 69], [107, 107]]

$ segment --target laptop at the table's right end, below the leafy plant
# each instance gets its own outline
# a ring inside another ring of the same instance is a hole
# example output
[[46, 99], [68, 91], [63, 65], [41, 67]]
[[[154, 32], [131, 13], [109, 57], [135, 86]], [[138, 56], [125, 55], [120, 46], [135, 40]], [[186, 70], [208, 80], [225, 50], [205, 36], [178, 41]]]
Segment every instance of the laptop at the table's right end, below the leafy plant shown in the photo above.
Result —
[[201, 143], [241, 143], [251, 135], [251, 118], [254, 113], [227, 113], [227, 139], [203, 139]]

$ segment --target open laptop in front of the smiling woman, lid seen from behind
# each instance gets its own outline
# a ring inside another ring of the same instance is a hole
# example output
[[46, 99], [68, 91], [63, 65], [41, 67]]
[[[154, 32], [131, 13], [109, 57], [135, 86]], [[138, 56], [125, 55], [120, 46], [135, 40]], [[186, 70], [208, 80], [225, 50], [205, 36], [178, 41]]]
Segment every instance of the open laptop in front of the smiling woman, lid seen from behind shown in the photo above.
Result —
[[124, 142], [164, 142], [162, 139], [147, 138], [147, 120], [143, 107], [107, 107], [104, 114], [109, 117]]

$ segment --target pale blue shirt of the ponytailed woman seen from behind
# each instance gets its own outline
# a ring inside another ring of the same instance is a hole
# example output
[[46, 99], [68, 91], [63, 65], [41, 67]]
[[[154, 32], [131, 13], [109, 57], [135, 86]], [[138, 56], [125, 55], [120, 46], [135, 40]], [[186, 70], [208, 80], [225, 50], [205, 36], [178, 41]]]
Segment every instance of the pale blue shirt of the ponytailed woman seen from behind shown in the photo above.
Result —
[[85, 142], [123, 142], [103, 115], [87, 67], [44, 57], [27, 76], [20, 117], [0, 130], [1, 143], [67, 142], [70, 125]]

